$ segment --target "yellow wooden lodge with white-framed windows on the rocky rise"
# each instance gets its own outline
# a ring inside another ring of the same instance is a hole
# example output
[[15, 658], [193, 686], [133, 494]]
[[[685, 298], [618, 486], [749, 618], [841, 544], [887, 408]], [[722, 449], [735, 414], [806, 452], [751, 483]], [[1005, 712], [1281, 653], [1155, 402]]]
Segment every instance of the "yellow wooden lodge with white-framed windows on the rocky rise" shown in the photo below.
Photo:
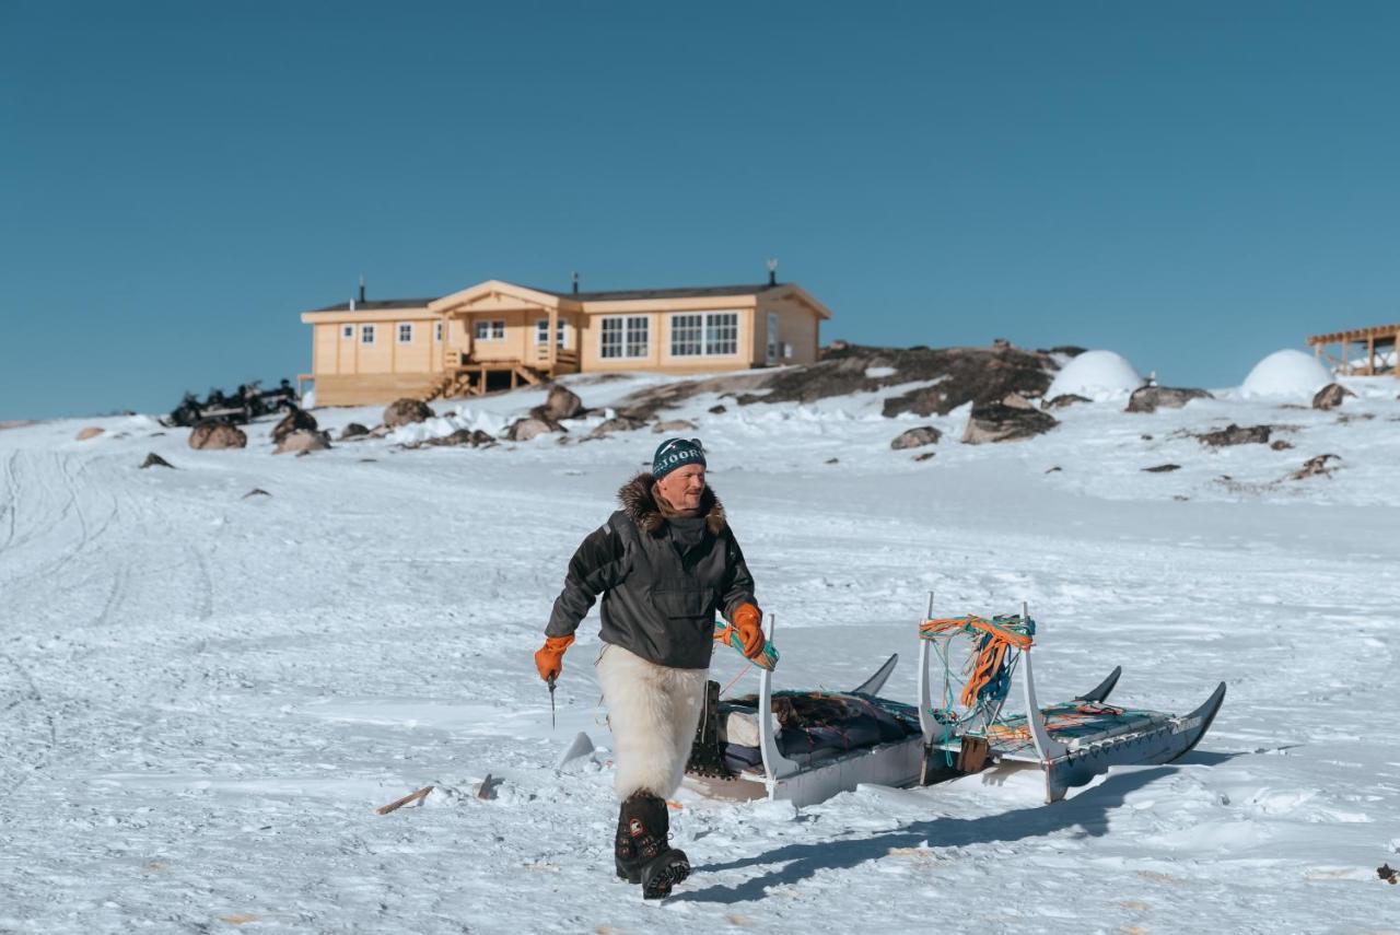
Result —
[[[794, 283], [554, 293], [487, 280], [442, 298], [304, 312], [319, 406], [480, 395], [563, 374], [701, 374], [818, 357], [832, 316]], [[550, 340], [553, 336], [553, 340]]]

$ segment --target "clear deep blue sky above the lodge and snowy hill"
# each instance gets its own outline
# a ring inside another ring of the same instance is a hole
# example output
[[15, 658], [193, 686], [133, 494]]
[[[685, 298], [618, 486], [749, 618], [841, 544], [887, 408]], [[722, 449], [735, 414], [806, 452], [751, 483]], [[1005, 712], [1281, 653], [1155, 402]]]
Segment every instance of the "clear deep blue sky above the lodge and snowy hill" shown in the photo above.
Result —
[[780, 276], [823, 340], [1177, 385], [1400, 319], [1400, 4], [0, 1], [0, 419], [309, 370], [298, 312]]

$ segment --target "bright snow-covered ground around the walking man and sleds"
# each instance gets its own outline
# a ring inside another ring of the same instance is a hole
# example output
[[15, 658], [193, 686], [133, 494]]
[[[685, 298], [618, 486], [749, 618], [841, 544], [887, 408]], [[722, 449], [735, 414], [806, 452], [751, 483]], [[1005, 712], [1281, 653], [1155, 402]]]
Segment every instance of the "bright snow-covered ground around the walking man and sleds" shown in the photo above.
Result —
[[[577, 388], [601, 406], [636, 385]], [[232, 452], [147, 417], [0, 431], [0, 929], [1400, 929], [1375, 872], [1400, 864], [1400, 382], [1351, 385], [1331, 413], [1081, 405], [976, 448], [966, 412], [881, 419], [897, 388], [694, 399], [676, 414], [778, 617], [781, 684], [850, 687], [899, 651], [886, 691], [913, 700], [934, 591], [948, 614], [1028, 599], [1046, 700], [1117, 663], [1126, 704], [1229, 696], [1183, 761], [1053, 806], [1025, 777], [799, 812], [685, 789], [673, 844], [696, 872], [661, 904], [613, 879], [606, 752], [554, 770], [580, 731], [609, 743], [596, 621], [553, 731], [531, 663], [568, 556], [658, 437], [396, 445], [498, 430], [535, 392], [307, 458], [273, 456], [269, 423]], [[890, 451], [923, 423], [946, 433], [934, 459]], [[1292, 448], [1186, 434], [1229, 423]], [[88, 424], [106, 431], [74, 441]], [[139, 470], [147, 452], [176, 470]], [[1322, 454], [1331, 476], [1289, 479]], [[1180, 469], [1142, 470], [1162, 463]], [[715, 677], [739, 665], [717, 655]]]

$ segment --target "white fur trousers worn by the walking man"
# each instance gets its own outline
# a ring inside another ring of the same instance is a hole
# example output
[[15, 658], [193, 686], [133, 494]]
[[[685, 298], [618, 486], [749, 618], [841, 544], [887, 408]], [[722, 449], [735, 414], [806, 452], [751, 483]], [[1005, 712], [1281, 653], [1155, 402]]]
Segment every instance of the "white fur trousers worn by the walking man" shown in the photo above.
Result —
[[707, 669], [672, 669], [603, 644], [598, 683], [617, 754], [619, 799], [638, 791], [669, 798], [680, 788], [708, 676]]

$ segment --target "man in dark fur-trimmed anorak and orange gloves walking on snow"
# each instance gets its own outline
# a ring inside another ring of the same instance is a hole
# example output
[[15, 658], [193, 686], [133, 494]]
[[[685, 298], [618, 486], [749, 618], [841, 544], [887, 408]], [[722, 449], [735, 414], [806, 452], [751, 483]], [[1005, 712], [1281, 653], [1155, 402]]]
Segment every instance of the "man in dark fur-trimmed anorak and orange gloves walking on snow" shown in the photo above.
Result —
[[763, 652], [763, 614], [753, 578], [706, 484], [699, 440], [668, 438], [617, 491], [622, 509], [578, 546], [545, 628], [535, 666], [546, 682], [563, 672], [574, 630], [602, 595], [598, 682], [613, 732], [617, 775], [617, 876], [661, 899], [690, 873], [685, 851], [666, 844], [666, 798], [680, 787], [724, 614], [750, 659]]

